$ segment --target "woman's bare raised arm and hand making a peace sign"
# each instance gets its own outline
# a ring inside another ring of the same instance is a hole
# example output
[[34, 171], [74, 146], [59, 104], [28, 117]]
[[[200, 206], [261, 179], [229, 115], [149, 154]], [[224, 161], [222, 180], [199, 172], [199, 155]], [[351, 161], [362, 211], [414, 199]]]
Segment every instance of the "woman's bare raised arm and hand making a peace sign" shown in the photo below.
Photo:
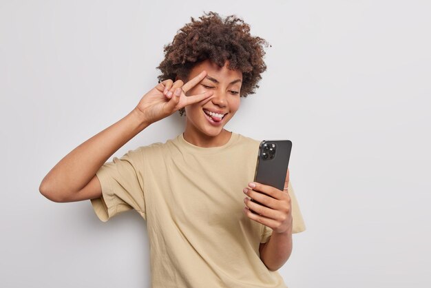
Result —
[[67, 154], [43, 178], [39, 191], [54, 202], [71, 202], [102, 195], [96, 172], [116, 150], [144, 130], [186, 105], [212, 96], [213, 92], [186, 96], [185, 92], [207, 75], [202, 71], [187, 83], [165, 80], [140, 99], [132, 112]]

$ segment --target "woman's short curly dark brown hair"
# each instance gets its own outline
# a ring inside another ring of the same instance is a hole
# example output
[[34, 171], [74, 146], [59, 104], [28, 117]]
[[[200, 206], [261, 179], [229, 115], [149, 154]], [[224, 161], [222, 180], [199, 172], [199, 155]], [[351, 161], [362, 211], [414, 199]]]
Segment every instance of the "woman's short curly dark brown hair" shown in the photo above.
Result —
[[[175, 81], [177, 76], [187, 79], [194, 65], [207, 59], [220, 67], [229, 61], [229, 69], [242, 72], [240, 96], [254, 94], [262, 79], [260, 74], [266, 70], [264, 47], [269, 43], [252, 37], [250, 25], [235, 15], [222, 19], [218, 13], [204, 12], [199, 19], [191, 17], [191, 23], [178, 30], [172, 43], [165, 45], [165, 59], [157, 67], [162, 72], [159, 83]], [[180, 115], [184, 113], [185, 109], [180, 109]]]

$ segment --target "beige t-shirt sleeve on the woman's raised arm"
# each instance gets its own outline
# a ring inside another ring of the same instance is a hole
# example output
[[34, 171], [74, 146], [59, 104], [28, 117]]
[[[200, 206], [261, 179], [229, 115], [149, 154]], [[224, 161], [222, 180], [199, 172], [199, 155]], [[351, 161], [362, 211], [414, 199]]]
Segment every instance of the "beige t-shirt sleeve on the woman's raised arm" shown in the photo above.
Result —
[[114, 157], [98, 169], [101, 198], [91, 199], [94, 212], [106, 222], [116, 214], [135, 209], [144, 219], [143, 154], [140, 148], [129, 150], [123, 157]]

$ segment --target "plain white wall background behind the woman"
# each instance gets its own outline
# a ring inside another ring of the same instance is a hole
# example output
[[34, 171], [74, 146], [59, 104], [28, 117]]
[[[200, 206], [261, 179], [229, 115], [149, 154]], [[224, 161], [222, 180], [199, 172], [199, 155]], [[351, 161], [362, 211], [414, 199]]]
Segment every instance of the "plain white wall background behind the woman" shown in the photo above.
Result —
[[[431, 287], [431, 3], [381, 0], [1, 0], [0, 287], [149, 287], [137, 213], [104, 224], [90, 201], [50, 202], [39, 184], [137, 105], [163, 45], [209, 10], [272, 45], [227, 129], [293, 141], [307, 230], [280, 269], [286, 284]], [[114, 156], [183, 121], [151, 125]]]

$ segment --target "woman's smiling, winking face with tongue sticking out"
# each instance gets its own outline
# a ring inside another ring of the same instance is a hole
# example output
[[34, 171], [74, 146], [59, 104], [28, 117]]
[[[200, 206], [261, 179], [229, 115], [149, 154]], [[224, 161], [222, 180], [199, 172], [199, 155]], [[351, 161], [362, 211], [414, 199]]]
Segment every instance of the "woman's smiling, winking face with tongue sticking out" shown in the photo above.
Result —
[[240, 107], [242, 72], [229, 70], [227, 64], [226, 62], [220, 68], [217, 64], [205, 60], [191, 70], [188, 79], [197, 76], [202, 70], [207, 71], [207, 76], [186, 95], [206, 91], [212, 91], [213, 95], [209, 99], [185, 107], [186, 130], [189, 132], [218, 136]]

